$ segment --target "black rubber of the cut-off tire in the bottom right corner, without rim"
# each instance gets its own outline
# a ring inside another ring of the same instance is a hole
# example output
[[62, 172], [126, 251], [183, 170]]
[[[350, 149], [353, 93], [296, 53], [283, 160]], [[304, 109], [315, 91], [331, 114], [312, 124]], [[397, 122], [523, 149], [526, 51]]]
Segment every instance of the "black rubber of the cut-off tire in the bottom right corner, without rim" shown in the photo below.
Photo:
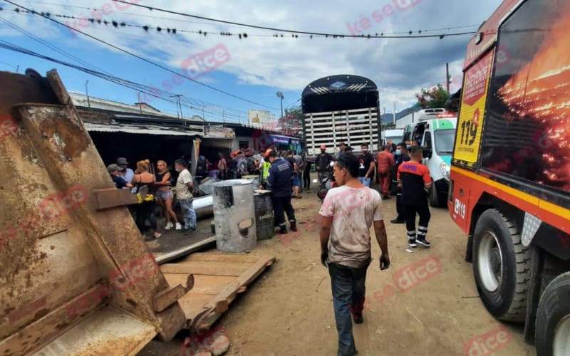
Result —
[[554, 355], [552, 343], [556, 326], [565, 317], [570, 317], [570, 272], [554, 278], [540, 297], [534, 333], [537, 356]]

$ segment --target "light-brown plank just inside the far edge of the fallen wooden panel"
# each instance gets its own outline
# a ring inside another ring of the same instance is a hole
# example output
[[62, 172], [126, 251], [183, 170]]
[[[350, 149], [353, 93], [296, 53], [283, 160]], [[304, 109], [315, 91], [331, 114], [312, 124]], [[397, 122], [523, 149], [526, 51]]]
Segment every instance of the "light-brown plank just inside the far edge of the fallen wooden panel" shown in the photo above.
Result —
[[209, 276], [241, 276], [251, 263], [218, 261], [182, 261], [160, 265], [162, 273], [186, 273]]

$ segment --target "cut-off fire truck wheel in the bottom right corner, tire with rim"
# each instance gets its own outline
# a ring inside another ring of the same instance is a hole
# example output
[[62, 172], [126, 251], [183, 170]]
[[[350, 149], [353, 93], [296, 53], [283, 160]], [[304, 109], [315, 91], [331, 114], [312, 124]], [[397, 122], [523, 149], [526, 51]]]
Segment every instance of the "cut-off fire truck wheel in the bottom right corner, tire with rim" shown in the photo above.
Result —
[[570, 355], [570, 272], [554, 278], [539, 301], [537, 355]]

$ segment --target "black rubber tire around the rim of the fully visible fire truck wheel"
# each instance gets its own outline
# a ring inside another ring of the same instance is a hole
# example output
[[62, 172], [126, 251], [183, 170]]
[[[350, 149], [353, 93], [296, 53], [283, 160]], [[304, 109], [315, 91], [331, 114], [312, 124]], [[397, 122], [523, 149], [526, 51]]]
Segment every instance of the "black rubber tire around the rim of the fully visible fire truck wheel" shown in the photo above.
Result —
[[[480, 244], [487, 231], [497, 236], [502, 255], [501, 281], [497, 290], [484, 287], [480, 276]], [[530, 279], [530, 250], [522, 246], [521, 236], [511, 221], [496, 209], [481, 214], [473, 234], [473, 275], [481, 300], [494, 318], [524, 322], [527, 315], [527, 289]]]

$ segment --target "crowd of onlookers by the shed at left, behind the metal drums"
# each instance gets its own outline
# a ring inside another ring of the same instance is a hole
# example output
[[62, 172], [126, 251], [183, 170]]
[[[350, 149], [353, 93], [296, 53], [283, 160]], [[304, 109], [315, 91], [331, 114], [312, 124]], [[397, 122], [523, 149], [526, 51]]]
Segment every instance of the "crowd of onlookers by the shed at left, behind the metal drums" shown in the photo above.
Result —
[[[266, 152], [254, 152], [246, 149], [232, 152], [229, 156], [219, 152], [217, 155], [218, 159], [213, 164], [206, 157], [200, 155], [197, 159], [195, 177], [192, 177], [192, 174], [190, 174], [188, 169], [189, 162], [183, 158], [174, 162], [175, 172], [171, 172], [168, 169], [167, 162], [163, 160], [157, 161], [156, 166], [152, 167], [148, 159], [137, 162], [136, 169], [133, 171], [125, 157], [119, 157], [115, 163], [109, 164], [107, 169], [115, 187], [118, 189], [129, 189], [133, 194], [137, 194], [140, 192], [141, 187], [147, 187], [148, 190], [145, 191], [145, 196], [141, 197], [140, 203], [133, 204], [129, 209], [141, 233], [147, 231], [146, 221], [149, 221], [150, 233], [155, 238], [159, 238], [162, 234], [157, 227], [156, 202], [162, 207], [162, 213], [165, 216], [165, 230], [174, 228], [177, 231], [195, 231], [196, 212], [192, 206], [192, 199], [195, 193], [194, 183], [196, 181], [199, 182], [206, 177], [214, 180], [225, 180], [239, 179], [248, 175], [259, 175], [261, 187], [267, 188], [269, 187], [269, 169], [274, 158], [282, 159], [281, 162], [286, 162], [289, 165], [291, 172], [289, 190], [292, 192], [294, 199], [301, 199], [301, 177], [303, 175], [306, 177], [306, 188], [310, 187], [310, 164], [307, 169], [304, 157], [298, 155], [294, 150], [278, 151], [275, 147], [270, 147], [270, 150], [274, 152], [271, 158], [268, 157], [269, 155]], [[276, 177], [276, 174], [274, 174], [274, 177]], [[182, 221], [179, 221], [172, 206], [173, 190], [175, 190], [176, 200], [182, 210]], [[283, 211], [287, 211], [287, 214], [293, 216], [293, 213], [291, 213], [292, 208], [289, 209], [285, 202], [281, 205], [276, 204], [276, 206], [283, 206]]]

